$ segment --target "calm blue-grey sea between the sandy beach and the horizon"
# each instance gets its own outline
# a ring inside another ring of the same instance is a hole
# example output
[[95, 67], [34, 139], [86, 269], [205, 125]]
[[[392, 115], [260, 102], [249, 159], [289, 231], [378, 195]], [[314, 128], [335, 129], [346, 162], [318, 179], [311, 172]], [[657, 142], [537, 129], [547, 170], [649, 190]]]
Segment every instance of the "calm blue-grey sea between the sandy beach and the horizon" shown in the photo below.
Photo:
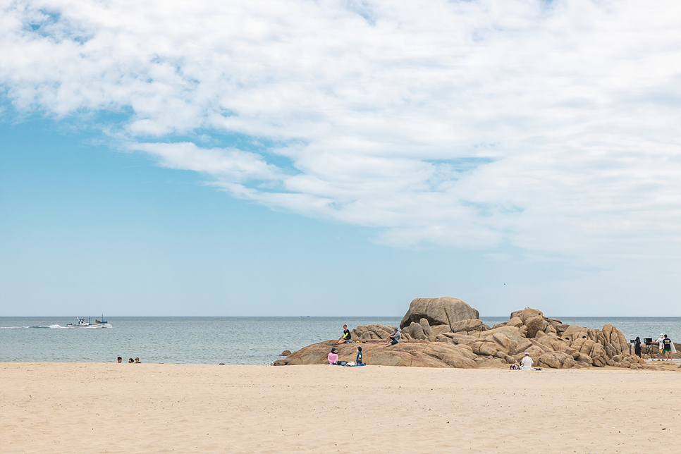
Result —
[[[627, 340], [681, 340], [681, 317], [557, 317], [601, 329], [617, 326]], [[109, 328], [67, 329], [75, 317], [0, 317], [0, 362], [141, 362], [271, 364], [283, 350], [337, 339], [343, 324], [398, 326], [402, 317], [105, 317]], [[489, 326], [506, 317], [480, 317]], [[94, 321], [94, 317], [92, 317]]]

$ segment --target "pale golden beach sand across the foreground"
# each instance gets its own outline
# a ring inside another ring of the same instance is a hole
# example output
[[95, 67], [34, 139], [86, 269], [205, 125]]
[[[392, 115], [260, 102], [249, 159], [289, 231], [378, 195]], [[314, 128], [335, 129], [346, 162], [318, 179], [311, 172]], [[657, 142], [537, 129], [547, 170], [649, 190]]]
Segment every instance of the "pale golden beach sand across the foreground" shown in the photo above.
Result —
[[0, 363], [0, 453], [678, 453], [681, 374]]

